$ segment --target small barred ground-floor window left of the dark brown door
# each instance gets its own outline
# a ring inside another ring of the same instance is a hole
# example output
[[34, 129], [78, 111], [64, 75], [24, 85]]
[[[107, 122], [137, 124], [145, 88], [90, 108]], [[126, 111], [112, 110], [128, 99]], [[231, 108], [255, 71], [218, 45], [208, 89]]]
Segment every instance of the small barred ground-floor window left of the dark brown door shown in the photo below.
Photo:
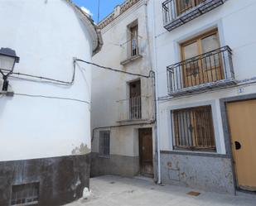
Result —
[[99, 132], [99, 156], [109, 157], [110, 153], [110, 131]]

